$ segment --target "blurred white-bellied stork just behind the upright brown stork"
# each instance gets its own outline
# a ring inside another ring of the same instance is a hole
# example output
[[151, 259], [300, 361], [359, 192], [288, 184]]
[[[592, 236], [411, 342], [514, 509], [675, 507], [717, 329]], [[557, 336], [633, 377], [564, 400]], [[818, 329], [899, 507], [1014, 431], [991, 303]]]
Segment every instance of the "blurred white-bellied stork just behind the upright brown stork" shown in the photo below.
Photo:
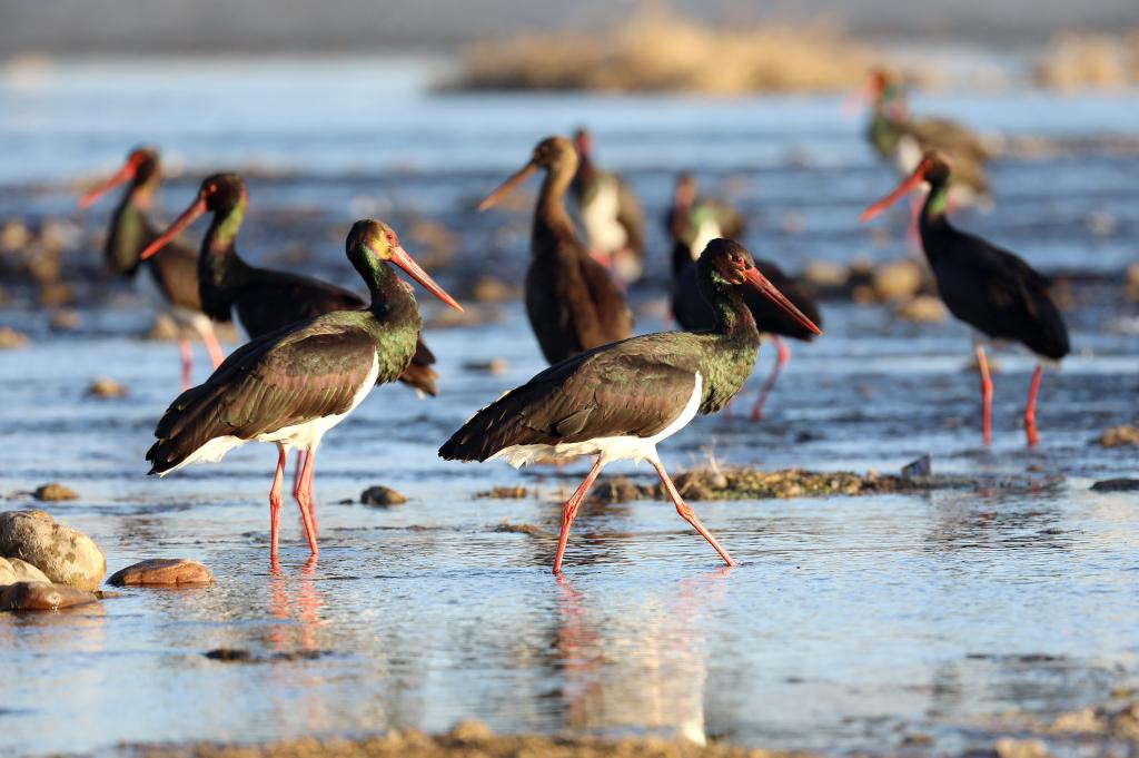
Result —
[[645, 270], [645, 212], [621, 177], [593, 163], [593, 135], [574, 132], [579, 164], [573, 189], [590, 254], [624, 284]]

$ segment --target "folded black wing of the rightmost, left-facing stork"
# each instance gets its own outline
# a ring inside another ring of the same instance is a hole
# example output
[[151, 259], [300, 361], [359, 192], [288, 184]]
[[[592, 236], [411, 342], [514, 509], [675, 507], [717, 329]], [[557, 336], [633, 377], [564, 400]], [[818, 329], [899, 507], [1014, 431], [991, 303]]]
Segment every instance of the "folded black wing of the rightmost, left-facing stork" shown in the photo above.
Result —
[[1018, 255], [954, 229], [933, 269], [945, 305], [978, 332], [1054, 360], [1071, 351], [1048, 279]]

